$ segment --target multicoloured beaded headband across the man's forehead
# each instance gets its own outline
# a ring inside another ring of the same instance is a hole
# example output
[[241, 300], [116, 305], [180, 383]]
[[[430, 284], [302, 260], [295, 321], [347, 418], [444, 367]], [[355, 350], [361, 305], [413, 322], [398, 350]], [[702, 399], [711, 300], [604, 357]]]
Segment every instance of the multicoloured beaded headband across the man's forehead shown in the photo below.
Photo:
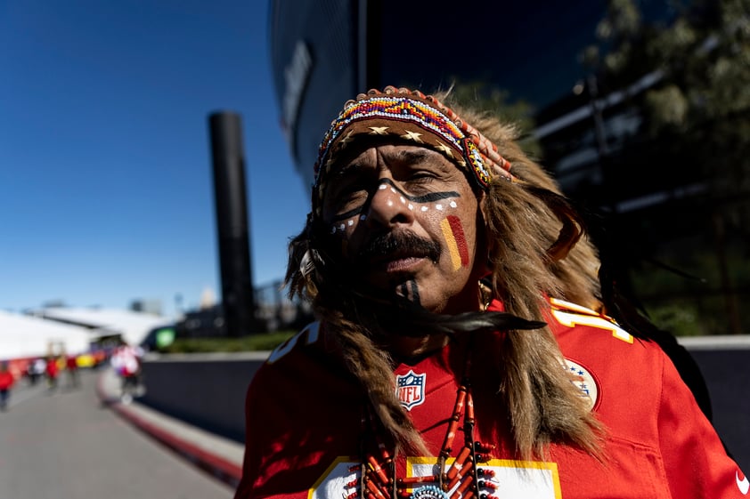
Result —
[[494, 176], [513, 180], [510, 163], [497, 146], [432, 95], [387, 86], [347, 101], [323, 136], [315, 162], [314, 214], [320, 215], [325, 181], [338, 155], [356, 136], [396, 137], [435, 149], [461, 168], [468, 168], [486, 189]]

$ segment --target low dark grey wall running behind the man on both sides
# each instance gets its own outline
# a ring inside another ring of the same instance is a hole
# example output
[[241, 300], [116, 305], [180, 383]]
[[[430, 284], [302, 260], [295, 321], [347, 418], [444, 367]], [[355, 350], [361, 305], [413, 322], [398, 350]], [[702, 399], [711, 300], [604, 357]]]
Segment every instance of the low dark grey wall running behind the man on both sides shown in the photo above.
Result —
[[[681, 339], [711, 392], [713, 424], [750, 471], [750, 336]], [[143, 363], [139, 401], [224, 437], [243, 441], [245, 392], [269, 352], [170, 355]]]

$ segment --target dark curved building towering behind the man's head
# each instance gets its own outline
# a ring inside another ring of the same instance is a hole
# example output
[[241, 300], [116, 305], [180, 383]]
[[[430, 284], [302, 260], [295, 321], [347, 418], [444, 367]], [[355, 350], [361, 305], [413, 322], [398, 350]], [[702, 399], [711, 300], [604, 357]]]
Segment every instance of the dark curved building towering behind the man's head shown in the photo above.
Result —
[[[638, 4], [644, 16], [669, 21], [668, 2]], [[740, 234], [729, 215], [705, 209], [705, 170], [687, 151], [644, 133], [639, 104], [662, 75], [656, 70], [615, 87], [581, 63], [606, 2], [271, 6], [273, 83], [306, 186], [330, 119], [356, 93], [385, 85], [426, 93], [454, 82], [490, 85], [534, 109], [534, 129], [525, 132], [541, 146], [542, 165], [583, 213], [607, 220], [607, 230], [593, 237], [620, 262], [618, 278], [655, 311], [657, 323], [681, 334], [750, 331], [737, 307], [750, 287], [741, 256], [750, 231]]]

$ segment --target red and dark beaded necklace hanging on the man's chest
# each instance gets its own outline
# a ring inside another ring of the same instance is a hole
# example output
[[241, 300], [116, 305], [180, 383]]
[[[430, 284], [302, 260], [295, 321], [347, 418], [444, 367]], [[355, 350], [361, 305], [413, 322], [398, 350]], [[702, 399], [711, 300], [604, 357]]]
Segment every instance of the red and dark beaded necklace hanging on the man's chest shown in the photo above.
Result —
[[[437, 463], [432, 475], [421, 477], [397, 478], [395, 459], [387, 446], [379, 438], [378, 424], [369, 410], [363, 418], [368, 427], [366, 435], [377, 444], [373, 455], [363, 445], [363, 462], [355, 465], [351, 471], [361, 472], [361, 477], [347, 484], [359, 486], [361, 492], [347, 495], [346, 499], [498, 499], [493, 495], [497, 489], [494, 471], [483, 468], [487, 463], [494, 446], [487, 446], [474, 438], [474, 401], [469, 382], [470, 357], [467, 354], [465, 372], [461, 386], [457, 390], [456, 402], [445, 432], [443, 446], [437, 456]], [[463, 447], [451, 465], [447, 465], [452, 453], [453, 440], [463, 416]]]

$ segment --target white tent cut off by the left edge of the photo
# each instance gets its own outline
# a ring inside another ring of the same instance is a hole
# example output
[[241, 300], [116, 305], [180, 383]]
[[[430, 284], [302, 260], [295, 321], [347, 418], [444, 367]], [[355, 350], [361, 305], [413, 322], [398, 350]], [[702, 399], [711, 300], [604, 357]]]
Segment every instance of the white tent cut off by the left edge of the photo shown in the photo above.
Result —
[[0, 359], [43, 357], [62, 351], [78, 355], [89, 350], [91, 339], [85, 327], [0, 310]]

